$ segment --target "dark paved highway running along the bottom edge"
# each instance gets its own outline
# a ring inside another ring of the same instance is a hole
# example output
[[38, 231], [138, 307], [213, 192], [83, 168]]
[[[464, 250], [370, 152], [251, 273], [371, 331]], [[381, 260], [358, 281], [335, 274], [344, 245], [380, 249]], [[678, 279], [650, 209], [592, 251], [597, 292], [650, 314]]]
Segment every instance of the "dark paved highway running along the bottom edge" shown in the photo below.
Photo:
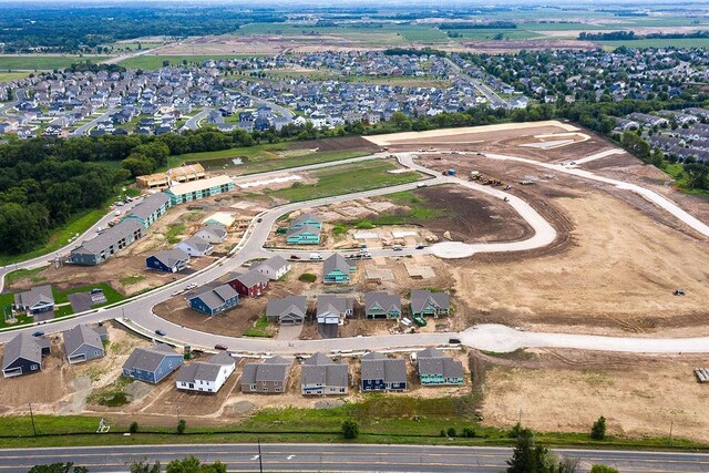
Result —
[[[579, 471], [603, 463], [621, 472], [709, 472], [709, 454], [555, 449], [559, 456], [580, 460]], [[74, 462], [91, 472], [125, 472], [132, 462], [160, 461], [195, 455], [203, 462], [223, 462], [227, 470], [259, 470], [255, 444], [136, 445], [0, 450], [0, 472], [25, 473], [35, 464]], [[367, 445], [367, 444], [261, 444], [264, 471], [297, 472], [490, 472], [506, 467], [508, 448]]]

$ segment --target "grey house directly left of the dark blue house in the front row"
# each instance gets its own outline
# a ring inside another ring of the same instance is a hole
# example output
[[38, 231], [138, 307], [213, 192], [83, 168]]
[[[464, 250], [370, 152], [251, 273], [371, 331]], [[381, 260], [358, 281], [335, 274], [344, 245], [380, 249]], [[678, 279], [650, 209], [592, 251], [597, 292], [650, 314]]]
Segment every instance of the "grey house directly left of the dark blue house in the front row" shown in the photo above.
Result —
[[302, 362], [302, 395], [345, 395], [349, 392], [349, 367], [342, 360], [332, 361], [326, 354], [315, 353]]

